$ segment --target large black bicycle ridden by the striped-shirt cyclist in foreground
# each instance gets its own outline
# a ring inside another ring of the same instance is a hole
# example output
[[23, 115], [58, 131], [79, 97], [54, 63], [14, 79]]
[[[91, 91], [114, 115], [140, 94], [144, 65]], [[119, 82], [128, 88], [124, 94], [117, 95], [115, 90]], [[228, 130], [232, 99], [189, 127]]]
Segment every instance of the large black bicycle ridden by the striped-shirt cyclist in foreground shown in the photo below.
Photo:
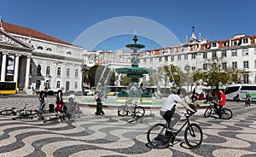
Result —
[[192, 113], [184, 113], [186, 117], [186, 122], [179, 128], [179, 130], [167, 131], [168, 124], [158, 123], [151, 126], [147, 132], [148, 144], [153, 148], [166, 148], [170, 142], [175, 141], [177, 134], [183, 130], [184, 140], [189, 148], [199, 148], [203, 140], [203, 132], [201, 131], [200, 125], [189, 122], [189, 117]]

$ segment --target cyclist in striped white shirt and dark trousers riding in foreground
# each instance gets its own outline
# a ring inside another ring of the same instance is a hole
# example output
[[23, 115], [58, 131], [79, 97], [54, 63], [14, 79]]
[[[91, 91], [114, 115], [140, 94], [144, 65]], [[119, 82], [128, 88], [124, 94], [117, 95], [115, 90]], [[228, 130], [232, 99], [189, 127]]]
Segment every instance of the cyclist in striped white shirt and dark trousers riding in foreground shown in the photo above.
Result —
[[[183, 98], [184, 94], [186, 93], [186, 90], [184, 89], [178, 89], [176, 94], [171, 94], [167, 97], [166, 101], [162, 104], [162, 107], [160, 108], [160, 115], [166, 119], [166, 122], [168, 123], [168, 129], [167, 131], [172, 131], [172, 125], [175, 125], [172, 123], [172, 116], [175, 110], [177, 110], [176, 103], [181, 103], [184, 108], [188, 109], [191, 113], [195, 113], [195, 110], [192, 108], [189, 108], [186, 102], [183, 102], [181, 98]], [[177, 110], [178, 113], [181, 113]], [[166, 132], [168, 133], [168, 132]]]

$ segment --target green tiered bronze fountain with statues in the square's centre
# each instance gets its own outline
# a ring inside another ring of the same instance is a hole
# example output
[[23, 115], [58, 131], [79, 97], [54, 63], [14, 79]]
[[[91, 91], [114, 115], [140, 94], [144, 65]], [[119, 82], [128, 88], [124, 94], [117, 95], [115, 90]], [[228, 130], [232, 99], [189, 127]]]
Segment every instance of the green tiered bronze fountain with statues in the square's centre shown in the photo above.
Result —
[[134, 44], [125, 45], [126, 48], [133, 50], [133, 53], [131, 54], [131, 67], [120, 67], [115, 69], [117, 73], [125, 73], [128, 78], [131, 78], [131, 84], [127, 86], [127, 90], [121, 90], [118, 97], [142, 98], [140, 99], [142, 102], [143, 97], [152, 97], [152, 94], [149, 93], [146, 88], [143, 88], [143, 85], [139, 85], [139, 78], [143, 78], [143, 74], [154, 73], [154, 69], [138, 67], [139, 60], [137, 50], [143, 49], [145, 46], [143, 44], [137, 44], [138, 38], [136, 34], [132, 40], [134, 41]]

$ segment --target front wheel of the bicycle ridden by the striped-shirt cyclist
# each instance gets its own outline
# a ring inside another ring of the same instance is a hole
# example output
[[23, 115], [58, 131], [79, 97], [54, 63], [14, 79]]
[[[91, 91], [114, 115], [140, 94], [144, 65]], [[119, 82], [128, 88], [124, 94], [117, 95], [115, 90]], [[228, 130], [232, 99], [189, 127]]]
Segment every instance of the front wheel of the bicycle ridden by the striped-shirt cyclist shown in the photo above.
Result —
[[195, 123], [191, 123], [184, 131], [184, 138], [189, 148], [199, 148], [203, 138], [201, 127]]

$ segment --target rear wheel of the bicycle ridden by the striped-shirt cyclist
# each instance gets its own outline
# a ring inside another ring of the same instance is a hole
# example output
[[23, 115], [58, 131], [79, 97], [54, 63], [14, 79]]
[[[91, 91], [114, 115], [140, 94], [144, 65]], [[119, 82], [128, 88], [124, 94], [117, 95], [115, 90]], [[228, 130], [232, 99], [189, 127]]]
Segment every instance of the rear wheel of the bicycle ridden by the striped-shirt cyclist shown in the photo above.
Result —
[[166, 135], [166, 125], [158, 123], [148, 130], [147, 140], [153, 148], [166, 148], [171, 141], [171, 136]]

